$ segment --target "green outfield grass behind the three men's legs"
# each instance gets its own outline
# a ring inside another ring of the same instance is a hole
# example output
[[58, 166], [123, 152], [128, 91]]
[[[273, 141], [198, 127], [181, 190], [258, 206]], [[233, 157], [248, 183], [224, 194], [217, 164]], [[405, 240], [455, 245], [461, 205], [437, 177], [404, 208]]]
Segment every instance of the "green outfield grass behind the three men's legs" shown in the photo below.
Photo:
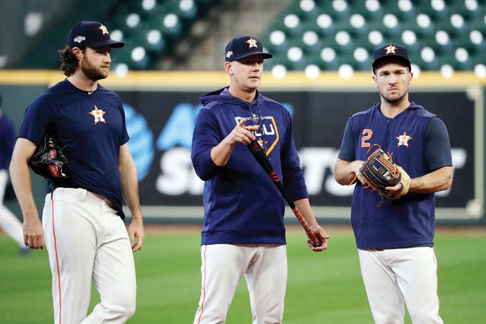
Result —
[[[349, 230], [332, 227], [329, 249], [312, 253], [303, 232], [289, 230], [289, 279], [284, 323], [373, 323]], [[445, 323], [486, 318], [486, 235], [437, 230], [439, 298]], [[0, 235], [0, 323], [52, 323], [51, 275], [45, 250], [21, 257]], [[135, 253], [137, 312], [129, 323], [192, 323], [199, 301], [199, 232], [148, 231]], [[93, 291], [92, 305], [98, 302]], [[251, 323], [246, 282], [237, 290], [227, 323]], [[406, 318], [405, 323], [411, 323]]]

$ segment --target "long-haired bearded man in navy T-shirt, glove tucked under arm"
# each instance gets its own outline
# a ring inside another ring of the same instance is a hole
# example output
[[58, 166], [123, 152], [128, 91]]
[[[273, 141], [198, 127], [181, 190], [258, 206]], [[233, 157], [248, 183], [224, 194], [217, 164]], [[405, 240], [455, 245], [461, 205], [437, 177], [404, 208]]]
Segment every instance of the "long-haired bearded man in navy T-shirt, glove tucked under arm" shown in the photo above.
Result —
[[[121, 100], [99, 84], [121, 46], [99, 22], [71, 29], [59, 51], [67, 78], [28, 106], [10, 163], [24, 243], [49, 253], [54, 323], [126, 323], [135, 312], [133, 253], [144, 243], [137, 170]], [[29, 165], [47, 178], [42, 223]], [[87, 314], [92, 282], [101, 302]]]

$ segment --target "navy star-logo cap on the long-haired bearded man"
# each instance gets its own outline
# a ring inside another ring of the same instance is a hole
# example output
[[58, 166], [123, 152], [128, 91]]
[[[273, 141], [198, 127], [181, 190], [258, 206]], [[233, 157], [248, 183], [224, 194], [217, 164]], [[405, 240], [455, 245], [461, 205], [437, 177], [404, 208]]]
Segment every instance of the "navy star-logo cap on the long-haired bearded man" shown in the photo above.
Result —
[[123, 42], [112, 40], [108, 29], [101, 22], [78, 22], [67, 35], [67, 46], [73, 47], [101, 47], [110, 45], [115, 49], [123, 47]]

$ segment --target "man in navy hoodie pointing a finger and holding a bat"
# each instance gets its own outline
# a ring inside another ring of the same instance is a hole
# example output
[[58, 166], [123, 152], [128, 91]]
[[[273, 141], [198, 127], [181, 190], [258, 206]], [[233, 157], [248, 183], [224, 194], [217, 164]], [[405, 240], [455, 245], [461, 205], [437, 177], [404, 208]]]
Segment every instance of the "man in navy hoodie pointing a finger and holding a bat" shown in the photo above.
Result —
[[228, 43], [225, 56], [230, 85], [201, 97], [204, 107], [192, 138], [192, 163], [205, 181], [202, 287], [194, 323], [224, 323], [243, 276], [253, 323], [281, 323], [287, 283], [284, 192], [247, 145], [258, 142], [274, 178], [282, 180], [286, 196], [319, 241], [309, 239], [310, 249], [325, 250], [329, 236], [310, 207], [290, 113], [257, 90], [263, 61], [271, 54], [260, 40], [240, 35]]

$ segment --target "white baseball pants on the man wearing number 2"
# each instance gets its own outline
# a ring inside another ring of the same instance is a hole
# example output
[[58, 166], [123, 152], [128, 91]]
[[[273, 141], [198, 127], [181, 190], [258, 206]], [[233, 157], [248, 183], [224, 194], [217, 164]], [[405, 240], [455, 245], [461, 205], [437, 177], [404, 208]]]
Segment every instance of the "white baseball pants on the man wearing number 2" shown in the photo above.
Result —
[[403, 324], [403, 302], [412, 323], [444, 323], [439, 316], [437, 260], [433, 248], [358, 250], [358, 254], [376, 324]]

